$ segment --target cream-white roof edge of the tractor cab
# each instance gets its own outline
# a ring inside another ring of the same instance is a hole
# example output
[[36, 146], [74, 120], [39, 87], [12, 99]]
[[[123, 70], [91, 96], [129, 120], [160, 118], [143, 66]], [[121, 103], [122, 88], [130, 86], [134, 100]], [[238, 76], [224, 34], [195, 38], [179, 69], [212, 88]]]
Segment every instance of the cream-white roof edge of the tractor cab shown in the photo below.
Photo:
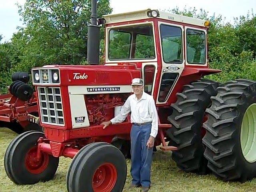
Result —
[[[120, 14], [109, 14], [109, 15], [103, 15], [102, 17], [106, 20], [106, 24], [117, 23], [117, 22], [127, 22], [127, 21], [152, 18], [147, 15], [147, 12], [151, 10], [152, 9], [146, 9], [146, 10], [138, 10], [138, 11], [126, 12], [126, 13], [120, 13]], [[162, 11], [158, 11], [158, 12], [159, 12], [159, 16], [157, 16], [156, 18], [205, 27], [204, 22], [206, 22], [206, 20], [162, 12]]]

